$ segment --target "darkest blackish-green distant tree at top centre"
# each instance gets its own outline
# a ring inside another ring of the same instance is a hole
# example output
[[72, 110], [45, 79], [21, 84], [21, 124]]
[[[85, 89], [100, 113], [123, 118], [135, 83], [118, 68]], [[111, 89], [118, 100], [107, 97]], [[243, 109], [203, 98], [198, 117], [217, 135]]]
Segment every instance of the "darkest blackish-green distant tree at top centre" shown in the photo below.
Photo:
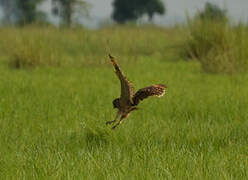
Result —
[[149, 20], [153, 19], [154, 14], [164, 14], [166, 9], [161, 0], [114, 0], [113, 19], [118, 23], [137, 20], [147, 14]]

